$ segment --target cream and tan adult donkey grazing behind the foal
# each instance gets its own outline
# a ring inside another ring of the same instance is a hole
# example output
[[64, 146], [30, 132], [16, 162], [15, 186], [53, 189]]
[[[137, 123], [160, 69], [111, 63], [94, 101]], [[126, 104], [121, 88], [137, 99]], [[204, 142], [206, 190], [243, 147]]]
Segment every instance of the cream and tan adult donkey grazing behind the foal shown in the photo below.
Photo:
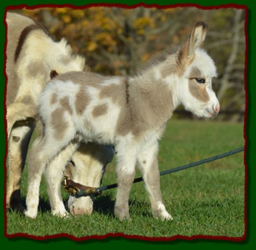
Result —
[[[83, 71], [86, 66], [85, 59], [74, 55], [65, 39], [53, 41], [48, 32], [33, 19], [7, 12], [6, 24], [6, 120], [9, 148], [6, 207], [23, 211], [21, 174], [36, 125], [38, 96], [56, 74]], [[65, 99], [62, 103], [65, 105]], [[94, 151], [91, 150], [91, 144], [89, 147], [81, 144], [72, 159], [75, 168], [68, 164], [68, 172], [72, 173], [71, 177], [75, 182], [99, 187], [105, 165], [111, 161], [113, 152], [109, 146], [94, 145], [93, 149]], [[50, 168], [54, 168], [51, 163]], [[68, 206], [73, 214], [90, 214], [92, 197], [70, 197]]]

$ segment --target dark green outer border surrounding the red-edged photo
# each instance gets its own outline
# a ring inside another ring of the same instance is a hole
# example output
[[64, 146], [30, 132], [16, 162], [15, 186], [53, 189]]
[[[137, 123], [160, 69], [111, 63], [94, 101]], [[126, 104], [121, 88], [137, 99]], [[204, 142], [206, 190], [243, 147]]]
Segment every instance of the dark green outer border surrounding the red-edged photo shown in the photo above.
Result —
[[[76, 2], [66, 2], [66, 1], [56, 1], [56, 0], [51, 0], [51, 1], [39, 1], [39, 0], [25, 0], [25, 1], [12, 1], [8, 0], [7, 1], [1, 1], [1, 32], [4, 37], [4, 10], [6, 7], [10, 6], [19, 6], [20, 4], [26, 4], [28, 6], [35, 6], [37, 4], [68, 4], [72, 3], [76, 6], [84, 6], [85, 4], [100, 4], [104, 2], [105, 4], [121, 4], [120, 0], [116, 1], [96, 1], [96, 0], [89, 0], [89, 1], [76, 1]], [[125, 239], [123, 237], [107, 237], [107, 239], [88, 239], [86, 241], [72, 241], [71, 239], [68, 238], [57, 238], [57, 239], [47, 239], [45, 241], [36, 241], [35, 239], [29, 239], [25, 237], [15, 237], [13, 239], [9, 239], [4, 237], [4, 206], [1, 206], [1, 244], [4, 246], [4, 249], [16, 249], [16, 248], [21, 248], [25, 249], [25, 247], [28, 248], [35, 248], [37, 249], [55, 249], [56, 247], [63, 247], [63, 249], [85, 249], [85, 247], [88, 247], [88, 249], [102, 249], [103, 247], [112, 247], [112, 248], [117, 248], [117, 247], [125, 247], [125, 248], [131, 248], [131, 247], [146, 247], [147, 249], [155, 249], [156, 247], [161, 247], [161, 249], [169, 249], [169, 247], [179, 247], [179, 248], [188, 248], [189, 249], [205, 249], [206, 247], [210, 247], [215, 249], [218, 247], [218, 249], [224, 249], [227, 247], [230, 247], [230, 249], [252, 249], [252, 247], [255, 245], [255, 239], [252, 237], [253, 234], [255, 234], [255, 227], [253, 227], [253, 222], [255, 222], [255, 215], [250, 212], [250, 211], [255, 211], [253, 209], [255, 207], [255, 201], [252, 200], [252, 192], [250, 190], [253, 187], [253, 183], [251, 181], [250, 176], [253, 176], [253, 171], [255, 173], [255, 170], [252, 168], [250, 169], [250, 166], [253, 166], [253, 163], [255, 163], [255, 160], [250, 158], [250, 152], [253, 151], [253, 144], [251, 143], [252, 138], [254, 136], [254, 131], [253, 131], [253, 119], [251, 114], [252, 114], [252, 104], [253, 101], [251, 99], [251, 96], [253, 91], [255, 91], [255, 86], [253, 84], [250, 84], [250, 82], [253, 79], [253, 74], [251, 69], [256, 68], [255, 63], [253, 60], [251, 60], [253, 55], [255, 53], [253, 50], [250, 49], [250, 44], [255, 44], [255, 31], [252, 31], [251, 26], [253, 22], [255, 22], [255, 17], [253, 16], [253, 1], [249, 0], [235, 0], [233, 2], [228, 2], [228, 1], [219, 1], [215, 0], [214, 4], [208, 4], [203, 0], [196, 0], [193, 3], [192, 2], [186, 2], [184, 0], [177, 2], [171, 2], [171, 1], [164, 1], [164, 0], [158, 0], [158, 1], [143, 1], [144, 4], [159, 4], [159, 5], [172, 5], [172, 4], [187, 4], [187, 5], [192, 5], [192, 4], [199, 4], [200, 6], [204, 7], [210, 7], [214, 8], [214, 6], [220, 6], [223, 4], [239, 4], [242, 6], [247, 6], [248, 12], [247, 12], [247, 37], [248, 37], [248, 48], [247, 48], [247, 121], [245, 121], [245, 133], [247, 136], [247, 153], [246, 153], [246, 159], [247, 159], [247, 236], [245, 240], [240, 241], [240, 242], [235, 242], [235, 241], [223, 241], [223, 240], [209, 240], [209, 239], [195, 239], [193, 241], [186, 241], [186, 240], [180, 240], [176, 239], [174, 241], [142, 241], [141, 239]], [[127, 5], [133, 5], [133, 4], [139, 4], [140, 1], [132, 0], [127, 3]], [[254, 11], [255, 12], [255, 11]], [[254, 41], [254, 42], [253, 42]], [[1, 48], [3, 53], [1, 53], [1, 56], [3, 60], [1, 60], [1, 66], [2, 69], [4, 69], [4, 39], [0, 40], [1, 42]], [[254, 66], [254, 67], [253, 67]], [[3, 71], [2, 71], [3, 72]], [[4, 72], [1, 74], [1, 81], [3, 84], [1, 85], [1, 103], [4, 103]], [[3, 105], [1, 107], [4, 107]], [[4, 108], [0, 109], [1, 112], [1, 117], [4, 117]], [[4, 119], [3, 119], [4, 121]], [[5, 134], [4, 134], [4, 122], [0, 123], [1, 126], [1, 148], [3, 149], [1, 152], [2, 154], [0, 155], [1, 157], [1, 162], [3, 162], [4, 165], [4, 152], [5, 152]], [[1, 168], [1, 176], [3, 176], [3, 183], [4, 183], [4, 168]], [[255, 184], [254, 184], [255, 186]], [[3, 201], [4, 204], [4, 192], [1, 192], [1, 200]]]

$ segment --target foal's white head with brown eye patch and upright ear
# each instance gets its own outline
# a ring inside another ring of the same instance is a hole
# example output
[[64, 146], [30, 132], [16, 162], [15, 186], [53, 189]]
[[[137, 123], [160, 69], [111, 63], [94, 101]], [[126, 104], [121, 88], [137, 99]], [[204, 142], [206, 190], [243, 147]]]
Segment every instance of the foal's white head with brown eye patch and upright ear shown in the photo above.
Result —
[[197, 22], [188, 41], [176, 53], [177, 99], [196, 116], [215, 118], [220, 111], [220, 104], [211, 88], [216, 67], [210, 56], [200, 49], [207, 29], [208, 24]]

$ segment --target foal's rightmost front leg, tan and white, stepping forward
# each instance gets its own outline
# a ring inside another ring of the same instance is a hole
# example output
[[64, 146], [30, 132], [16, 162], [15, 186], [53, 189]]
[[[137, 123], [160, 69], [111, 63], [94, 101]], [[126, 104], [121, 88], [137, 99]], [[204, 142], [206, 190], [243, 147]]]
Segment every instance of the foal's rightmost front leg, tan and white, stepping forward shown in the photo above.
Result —
[[147, 192], [149, 193], [153, 216], [159, 217], [160, 219], [173, 219], [163, 204], [157, 164], [157, 144], [141, 151], [137, 161], [142, 171]]

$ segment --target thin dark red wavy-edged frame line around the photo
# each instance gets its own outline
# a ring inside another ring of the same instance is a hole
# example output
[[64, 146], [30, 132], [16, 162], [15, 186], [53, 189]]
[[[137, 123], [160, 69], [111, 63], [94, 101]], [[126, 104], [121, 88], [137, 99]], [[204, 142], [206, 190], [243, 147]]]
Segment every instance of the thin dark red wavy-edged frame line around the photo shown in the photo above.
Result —
[[[4, 10], [4, 26], [7, 29], [6, 24], [6, 12], [15, 9], [22, 9], [26, 8], [29, 10], [38, 9], [38, 8], [72, 8], [72, 9], [88, 9], [92, 7], [106, 7], [106, 8], [123, 8], [123, 9], [135, 9], [138, 7], [144, 8], [157, 8], [157, 9], [168, 9], [168, 8], [198, 8], [198, 9], [227, 9], [227, 8], [235, 8], [235, 9], [245, 9], [245, 70], [244, 70], [244, 81], [245, 81], [245, 118], [244, 118], [244, 126], [243, 126], [243, 136], [245, 138], [245, 150], [243, 154], [243, 162], [245, 165], [245, 214], [244, 214], [244, 221], [245, 221], [245, 232], [241, 237], [227, 237], [227, 236], [204, 236], [204, 235], [193, 235], [193, 236], [182, 236], [176, 235], [171, 237], [146, 237], [146, 236], [137, 236], [137, 235], [127, 235], [123, 234], [122, 232], [117, 233], [108, 233], [104, 236], [92, 235], [92, 236], [85, 236], [85, 237], [75, 237], [71, 234], [55, 234], [50, 236], [33, 236], [24, 233], [16, 233], [16, 234], [8, 234], [7, 233], [7, 216], [6, 216], [6, 180], [7, 180], [7, 171], [6, 171], [6, 160], [8, 155], [8, 139], [6, 137], [6, 152], [4, 154], [4, 236], [8, 238], [14, 237], [28, 237], [30, 239], [36, 240], [46, 240], [46, 239], [55, 239], [58, 237], [67, 237], [72, 239], [73, 241], [85, 241], [87, 239], [105, 239], [107, 237], [124, 237], [125, 239], [141, 239], [144, 241], [173, 241], [174, 239], [184, 239], [184, 240], [193, 240], [193, 239], [213, 239], [213, 240], [222, 240], [222, 241], [244, 241], [247, 236], [247, 164], [246, 164], [246, 152], [247, 152], [247, 137], [246, 137], [246, 126], [247, 126], [247, 105], [248, 105], [248, 95], [247, 95], [247, 53], [248, 53], [248, 37], [247, 37], [247, 22], [248, 22], [248, 8], [245, 5], [240, 4], [220, 4], [218, 6], [200, 6], [199, 4], [170, 4], [170, 5], [161, 5], [158, 4], [134, 4], [134, 5], [127, 5], [127, 4], [86, 4], [83, 6], [74, 6], [73, 4], [37, 4], [35, 6], [28, 6], [26, 4], [21, 4], [17, 6], [8, 6]], [[6, 83], [8, 80], [6, 74], [6, 45], [7, 45], [7, 32], [5, 32], [5, 42], [4, 42], [4, 76], [6, 78]], [[4, 114], [6, 114], [6, 84], [4, 88]], [[6, 115], [4, 116], [4, 124], [5, 124], [5, 133], [7, 134], [7, 121]]]

